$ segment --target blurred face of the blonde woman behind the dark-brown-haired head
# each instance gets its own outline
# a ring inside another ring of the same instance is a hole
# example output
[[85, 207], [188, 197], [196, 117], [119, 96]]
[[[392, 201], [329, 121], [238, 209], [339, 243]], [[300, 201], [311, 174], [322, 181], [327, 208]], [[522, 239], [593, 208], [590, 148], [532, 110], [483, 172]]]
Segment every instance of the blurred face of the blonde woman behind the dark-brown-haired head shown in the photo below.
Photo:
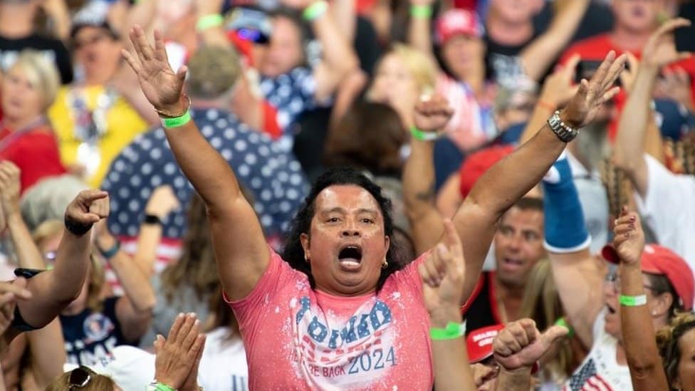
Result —
[[393, 53], [387, 54], [374, 75], [370, 100], [390, 105], [400, 115], [404, 115], [412, 113], [421, 93], [404, 61]]

